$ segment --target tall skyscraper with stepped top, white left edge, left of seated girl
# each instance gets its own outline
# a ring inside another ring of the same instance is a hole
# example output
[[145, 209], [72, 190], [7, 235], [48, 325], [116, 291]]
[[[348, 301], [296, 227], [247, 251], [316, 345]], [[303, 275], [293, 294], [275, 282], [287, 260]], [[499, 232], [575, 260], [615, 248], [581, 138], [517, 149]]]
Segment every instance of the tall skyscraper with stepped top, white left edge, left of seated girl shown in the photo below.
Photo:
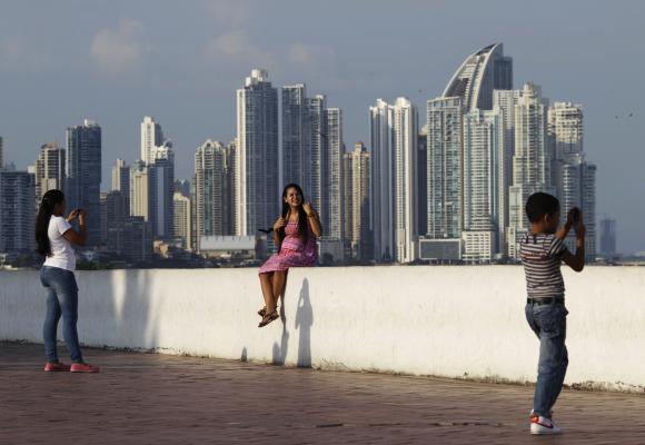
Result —
[[255, 236], [280, 211], [278, 91], [265, 70], [252, 70], [237, 90], [236, 231]]

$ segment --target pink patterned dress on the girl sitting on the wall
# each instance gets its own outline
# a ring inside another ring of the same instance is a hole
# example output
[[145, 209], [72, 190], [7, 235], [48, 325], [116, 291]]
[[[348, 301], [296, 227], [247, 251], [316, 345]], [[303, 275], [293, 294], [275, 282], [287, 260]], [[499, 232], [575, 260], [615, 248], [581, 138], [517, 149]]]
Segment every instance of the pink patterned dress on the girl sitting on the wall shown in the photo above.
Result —
[[285, 239], [278, 254], [271, 255], [260, 267], [260, 274], [288, 270], [289, 267], [311, 267], [316, 264], [318, 249], [316, 237], [307, 227], [307, 244], [298, 236], [298, 222], [289, 221], [285, 227]]

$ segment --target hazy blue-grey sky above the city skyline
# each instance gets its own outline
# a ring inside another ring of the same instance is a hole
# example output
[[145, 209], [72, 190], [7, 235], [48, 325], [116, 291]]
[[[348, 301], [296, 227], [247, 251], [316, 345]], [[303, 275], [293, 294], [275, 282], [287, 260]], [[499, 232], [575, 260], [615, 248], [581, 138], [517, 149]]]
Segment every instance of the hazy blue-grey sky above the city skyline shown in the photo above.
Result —
[[469, 53], [502, 41], [516, 87], [534, 80], [552, 101], [584, 105], [598, 215], [617, 219], [621, 250], [645, 250], [644, 21], [636, 0], [7, 0], [0, 136], [26, 168], [41, 144], [93, 118], [108, 188], [115, 159], [139, 156], [151, 115], [189, 178], [200, 142], [235, 137], [235, 90], [254, 67], [275, 86], [326, 93], [351, 147], [368, 142], [377, 98], [407, 96], [425, 116]]

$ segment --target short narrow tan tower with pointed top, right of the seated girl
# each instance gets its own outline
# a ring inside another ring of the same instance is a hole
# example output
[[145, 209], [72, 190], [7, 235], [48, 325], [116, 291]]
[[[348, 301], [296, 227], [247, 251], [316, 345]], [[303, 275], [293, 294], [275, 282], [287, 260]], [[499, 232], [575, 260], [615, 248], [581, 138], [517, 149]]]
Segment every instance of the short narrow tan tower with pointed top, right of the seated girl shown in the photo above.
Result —
[[345, 236], [353, 258], [374, 258], [370, 230], [369, 191], [371, 181], [370, 154], [363, 142], [344, 156], [345, 172]]

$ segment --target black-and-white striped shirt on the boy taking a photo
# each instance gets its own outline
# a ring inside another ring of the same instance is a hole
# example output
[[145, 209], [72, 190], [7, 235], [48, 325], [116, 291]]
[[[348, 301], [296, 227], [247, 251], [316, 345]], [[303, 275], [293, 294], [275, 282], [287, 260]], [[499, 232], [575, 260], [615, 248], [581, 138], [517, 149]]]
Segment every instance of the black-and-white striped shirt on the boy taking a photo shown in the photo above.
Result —
[[519, 247], [528, 297], [564, 297], [559, 266], [567, 248], [562, 239], [553, 234], [527, 234]]

